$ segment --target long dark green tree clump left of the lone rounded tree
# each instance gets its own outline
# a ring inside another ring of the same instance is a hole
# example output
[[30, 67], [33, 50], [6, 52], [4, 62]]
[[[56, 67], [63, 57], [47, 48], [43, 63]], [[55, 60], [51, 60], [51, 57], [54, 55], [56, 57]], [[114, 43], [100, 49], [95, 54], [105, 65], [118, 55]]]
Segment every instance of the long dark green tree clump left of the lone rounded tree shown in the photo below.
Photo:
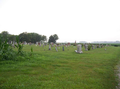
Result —
[[19, 35], [11, 35], [7, 31], [3, 31], [0, 33], [0, 36], [3, 38], [8, 38], [8, 41], [16, 41], [16, 36], [19, 36], [20, 42], [31, 42], [31, 43], [36, 43], [39, 41], [46, 41], [47, 37], [45, 35], [39, 35], [37, 33], [27, 33], [23, 32], [20, 33]]

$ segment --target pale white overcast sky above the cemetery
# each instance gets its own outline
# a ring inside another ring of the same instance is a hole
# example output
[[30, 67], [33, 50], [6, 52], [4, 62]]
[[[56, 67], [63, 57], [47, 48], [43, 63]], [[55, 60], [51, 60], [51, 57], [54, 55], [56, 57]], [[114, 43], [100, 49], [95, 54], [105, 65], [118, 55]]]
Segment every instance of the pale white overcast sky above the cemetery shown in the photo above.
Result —
[[57, 34], [57, 42], [120, 41], [120, 0], [0, 0], [0, 33]]

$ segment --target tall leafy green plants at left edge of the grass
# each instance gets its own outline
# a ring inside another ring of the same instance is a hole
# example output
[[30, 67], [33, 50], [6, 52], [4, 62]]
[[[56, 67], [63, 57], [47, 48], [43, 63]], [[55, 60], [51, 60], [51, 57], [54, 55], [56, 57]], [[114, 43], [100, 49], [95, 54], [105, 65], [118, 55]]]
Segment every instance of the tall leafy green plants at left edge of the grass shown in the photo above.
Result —
[[[23, 44], [20, 44], [18, 37], [16, 37], [16, 41], [17, 44], [15, 44], [15, 46], [18, 49], [17, 53], [13, 51], [12, 45], [7, 43], [7, 38], [4, 39], [2, 36], [0, 37], [0, 60], [23, 60], [26, 58], [29, 59], [29, 53], [25, 53], [22, 51]], [[30, 55], [33, 56], [32, 47]]]

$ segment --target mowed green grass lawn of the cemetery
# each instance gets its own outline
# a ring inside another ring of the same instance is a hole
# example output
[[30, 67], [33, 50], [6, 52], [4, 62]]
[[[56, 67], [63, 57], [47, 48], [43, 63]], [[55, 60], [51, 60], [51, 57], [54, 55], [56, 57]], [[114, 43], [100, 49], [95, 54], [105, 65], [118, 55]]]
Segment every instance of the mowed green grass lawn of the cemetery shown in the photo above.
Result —
[[[77, 54], [77, 47], [25, 45], [33, 55], [0, 61], [0, 89], [116, 89], [114, 72], [120, 47], [97, 48]], [[16, 50], [16, 49], [15, 49]]]

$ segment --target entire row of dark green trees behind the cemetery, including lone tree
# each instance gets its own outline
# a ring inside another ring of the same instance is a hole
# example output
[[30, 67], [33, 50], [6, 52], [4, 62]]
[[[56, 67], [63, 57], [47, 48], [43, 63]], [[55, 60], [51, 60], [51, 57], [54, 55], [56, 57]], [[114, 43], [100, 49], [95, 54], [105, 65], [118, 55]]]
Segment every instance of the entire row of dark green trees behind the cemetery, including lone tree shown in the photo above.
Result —
[[[23, 32], [20, 33], [19, 35], [11, 35], [7, 31], [3, 31], [0, 33], [0, 36], [2, 36], [4, 39], [7, 38], [8, 42], [10, 41], [16, 41], [16, 37], [19, 36], [20, 42], [31, 42], [31, 43], [36, 43], [40, 41], [47, 41], [47, 37], [45, 35], [40, 35], [38, 33], [27, 33]], [[56, 40], [58, 40], [57, 34], [51, 35], [49, 37], [48, 43], [56, 43]]]

